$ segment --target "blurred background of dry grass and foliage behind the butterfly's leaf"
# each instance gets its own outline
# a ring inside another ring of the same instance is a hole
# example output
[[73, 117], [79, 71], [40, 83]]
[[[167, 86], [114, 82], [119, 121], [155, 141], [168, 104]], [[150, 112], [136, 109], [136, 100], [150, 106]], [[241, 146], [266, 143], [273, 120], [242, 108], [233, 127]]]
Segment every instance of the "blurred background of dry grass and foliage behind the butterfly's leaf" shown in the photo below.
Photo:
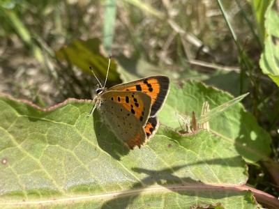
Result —
[[[112, 53], [107, 86], [163, 74], [250, 92], [246, 108], [271, 134], [278, 162], [278, 86], [259, 68], [270, 2], [1, 0], [0, 92], [41, 107], [91, 99], [89, 66], [103, 81]], [[264, 167], [249, 171], [250, 185], [278, 196]]]

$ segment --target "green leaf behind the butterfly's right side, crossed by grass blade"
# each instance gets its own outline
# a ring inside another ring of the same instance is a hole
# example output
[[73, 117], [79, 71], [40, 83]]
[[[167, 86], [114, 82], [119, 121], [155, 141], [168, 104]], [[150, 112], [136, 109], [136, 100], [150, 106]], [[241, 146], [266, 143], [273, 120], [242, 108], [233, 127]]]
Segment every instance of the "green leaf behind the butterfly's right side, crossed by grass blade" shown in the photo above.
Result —
[[[190, 115], [195, 111], [200, 116], [205, 101], [213, 109], [229, 100], [232, 100], [232, 95], [202, 83], [172, 84], [164, 109], [159, 114], [160, 122], [179, 129], [177, 114]], [[221, 137], [225, 144], [229, 144], [248, 162], [266, 160], [271, 152], [269, 134], [244, 110], [242, 104], [235, 104], [225, 113], [211, 118], [209, 125], [213, 134]]]

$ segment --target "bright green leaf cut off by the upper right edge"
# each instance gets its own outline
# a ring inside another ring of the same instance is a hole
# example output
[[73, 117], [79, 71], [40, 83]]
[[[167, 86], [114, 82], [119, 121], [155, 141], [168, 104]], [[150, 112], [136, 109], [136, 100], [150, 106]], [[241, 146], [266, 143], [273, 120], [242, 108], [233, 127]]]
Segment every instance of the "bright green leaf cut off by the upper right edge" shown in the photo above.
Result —
[[279, 15], [276, 9], [276, 1], [271, 1], [265, 17], [267, 37], [259, 65], [262, 72], [269, 75], [273, 82], [279, 86]]

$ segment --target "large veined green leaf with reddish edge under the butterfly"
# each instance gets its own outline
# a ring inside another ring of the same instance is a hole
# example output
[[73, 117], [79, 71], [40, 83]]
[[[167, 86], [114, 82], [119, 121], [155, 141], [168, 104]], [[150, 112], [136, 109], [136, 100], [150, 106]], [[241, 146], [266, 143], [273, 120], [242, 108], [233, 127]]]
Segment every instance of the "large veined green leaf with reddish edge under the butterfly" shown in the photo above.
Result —
[[97, 111], [86, 117], [91, 107], [68, 100], [43, 110], [1, 96], [0, 208], [256, 208], [251, 192], [234, 188], [246, 183], [245, 162], [220, 137], [161, 125], [130, 150]]

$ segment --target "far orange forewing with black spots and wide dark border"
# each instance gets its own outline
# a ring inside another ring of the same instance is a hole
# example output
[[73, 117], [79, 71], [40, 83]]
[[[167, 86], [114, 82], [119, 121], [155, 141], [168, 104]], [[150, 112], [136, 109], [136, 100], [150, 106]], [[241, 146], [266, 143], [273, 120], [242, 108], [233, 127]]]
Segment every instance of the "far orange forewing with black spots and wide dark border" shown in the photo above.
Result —
[[113, 86], [108, 91], [137, 91], [146, 93], [151, 97], [150, 116], [155, 116], [167, 97], [169, 91], [169, 78], [165, 76], [146, 77], [134, 82]]

